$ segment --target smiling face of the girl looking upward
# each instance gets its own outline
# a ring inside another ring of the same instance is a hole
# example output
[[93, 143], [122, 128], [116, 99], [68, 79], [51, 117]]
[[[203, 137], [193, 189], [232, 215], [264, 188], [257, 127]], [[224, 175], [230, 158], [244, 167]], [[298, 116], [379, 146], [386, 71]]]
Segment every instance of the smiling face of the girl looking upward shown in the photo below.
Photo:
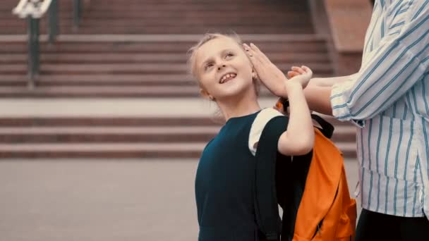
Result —
[[255, 91], [252, 64], [242, 47], [229, 37], [203, 44], [195, 55], [195, 70], [205, 97], [219, 101]]

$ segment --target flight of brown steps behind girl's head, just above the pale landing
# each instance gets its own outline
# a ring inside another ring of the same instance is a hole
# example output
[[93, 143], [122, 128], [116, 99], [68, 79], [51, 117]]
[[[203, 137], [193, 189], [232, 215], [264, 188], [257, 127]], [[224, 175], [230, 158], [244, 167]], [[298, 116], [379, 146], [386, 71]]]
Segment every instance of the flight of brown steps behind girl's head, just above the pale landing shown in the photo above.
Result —
[[[79, 36], [78, 36], [79, 37]], [[68, 36], [40, 55], [35, 89], [26, 85], [25, 42], [0, 45], [0, 97], [197, 97], [186, 51], [200, 35]], [[282, 70], [306, 64], [318, 76], [332, 75], [325, 40], [315, 35], [245, 35]], [[132, 41], [120, 39], [129, 38]], [[81, 39], [81, 38], [80, 38]], [[192, 39], [192, 40], [191, 40]], [[102, 40], [102, 41], [100, 41]], [[269, 96], [264, 90], [262, 96]]]

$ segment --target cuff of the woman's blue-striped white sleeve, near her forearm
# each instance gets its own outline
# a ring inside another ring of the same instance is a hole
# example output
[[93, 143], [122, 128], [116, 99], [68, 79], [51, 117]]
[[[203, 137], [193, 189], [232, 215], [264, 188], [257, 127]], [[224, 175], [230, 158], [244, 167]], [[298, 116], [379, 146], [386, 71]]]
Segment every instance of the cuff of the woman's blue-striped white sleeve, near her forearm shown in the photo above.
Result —
[[350, 89], [353, 85], [354, 81], [347, 81], [332, 86], [330, 97], [332, 116], [339, 121], [351, 121], [351, 123], [354, 123], [359, 128], [363, 128], [365, 121], [353, 119], [349, 105], [347, 104], [348, 98], [344, 94], [345, 90]]

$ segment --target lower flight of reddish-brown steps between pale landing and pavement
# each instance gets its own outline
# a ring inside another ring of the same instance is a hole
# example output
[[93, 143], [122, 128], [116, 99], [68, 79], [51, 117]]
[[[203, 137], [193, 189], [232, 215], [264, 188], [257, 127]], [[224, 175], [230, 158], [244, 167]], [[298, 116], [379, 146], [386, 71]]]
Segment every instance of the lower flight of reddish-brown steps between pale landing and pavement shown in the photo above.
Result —
[[[0, 125], [0, 158], [104, 159], [198, 158], [221, 127], [212, 118], [171, 116], [0, 118]], [[346, 157], [356, 155], [353, 132], [336, 123], [332, 140]]]

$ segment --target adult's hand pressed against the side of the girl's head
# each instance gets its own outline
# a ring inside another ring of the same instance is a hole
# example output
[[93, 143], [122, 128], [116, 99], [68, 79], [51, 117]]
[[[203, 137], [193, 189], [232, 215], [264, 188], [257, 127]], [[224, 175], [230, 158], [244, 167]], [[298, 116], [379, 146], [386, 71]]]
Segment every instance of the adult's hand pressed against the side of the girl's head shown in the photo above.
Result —
[[286, 97], [284, 82], [287, 81], [287, 78], [282, 70], [279, 70], [255, 44], [250, 44], [250, 47], [247, 44], [243, 44], [243, 48], [265, 87], [277, 97]]

